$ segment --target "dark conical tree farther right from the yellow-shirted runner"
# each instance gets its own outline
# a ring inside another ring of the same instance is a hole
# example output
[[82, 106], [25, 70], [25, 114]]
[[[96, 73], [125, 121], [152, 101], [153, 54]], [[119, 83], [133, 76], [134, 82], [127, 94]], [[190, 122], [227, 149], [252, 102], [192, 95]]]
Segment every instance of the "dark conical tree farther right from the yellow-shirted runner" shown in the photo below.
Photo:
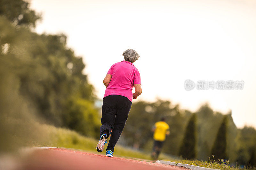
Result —
[[225, 115], [218, 130], [215, 142], [212, 147], [211, 156], [213, 159], [228, 159], [227, 156], [227, 124], [228, 117]]

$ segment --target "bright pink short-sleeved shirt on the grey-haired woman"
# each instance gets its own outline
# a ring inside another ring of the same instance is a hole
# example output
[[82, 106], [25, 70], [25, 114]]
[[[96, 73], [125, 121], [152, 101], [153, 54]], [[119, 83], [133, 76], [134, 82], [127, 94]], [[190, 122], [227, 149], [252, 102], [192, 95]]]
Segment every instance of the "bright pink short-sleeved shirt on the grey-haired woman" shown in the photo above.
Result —
[[138, 69], [129, 61], [121, 61], [113, 64], [107, 74], [111, 74], [111, 81], [105, 91], [105, 95], [121, 95], [132, 102], [132, 89], [134, 84], [141, 84]]

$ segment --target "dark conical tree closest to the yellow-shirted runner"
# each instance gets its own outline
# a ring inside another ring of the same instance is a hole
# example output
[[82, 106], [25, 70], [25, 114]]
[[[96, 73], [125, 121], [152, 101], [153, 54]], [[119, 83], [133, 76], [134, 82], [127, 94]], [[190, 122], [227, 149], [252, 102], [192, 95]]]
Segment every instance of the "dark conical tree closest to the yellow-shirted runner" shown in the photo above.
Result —
[[179, 154], [185, 159], [196, 158], [196, 114], [193, 114], [188, 121]]

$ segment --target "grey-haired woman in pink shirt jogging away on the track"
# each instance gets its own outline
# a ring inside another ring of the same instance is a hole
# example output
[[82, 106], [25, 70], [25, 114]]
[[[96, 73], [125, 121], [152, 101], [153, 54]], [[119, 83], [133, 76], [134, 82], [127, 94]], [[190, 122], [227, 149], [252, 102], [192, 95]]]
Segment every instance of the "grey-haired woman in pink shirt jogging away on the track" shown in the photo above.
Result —
[[[102, 105], [100, 140], [97, 151], [102, 152], [107, 138], [111, 134], [106, 156], [113, 157], [114, 147], [118, 141], [132, 106], [132, 98], [142, 93], [140, 73], [132, 64], [140, 55], [132, 49], [123, 53], [124, 60], [113, 64], [103, 80], [106, 86]], [[135, 93], [132, 94], [133, 86]]]

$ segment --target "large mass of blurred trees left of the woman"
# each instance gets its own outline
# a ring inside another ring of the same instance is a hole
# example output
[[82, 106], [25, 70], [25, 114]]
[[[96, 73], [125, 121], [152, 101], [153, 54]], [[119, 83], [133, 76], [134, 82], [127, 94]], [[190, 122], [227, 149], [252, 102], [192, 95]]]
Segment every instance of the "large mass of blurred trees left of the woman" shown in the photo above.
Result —
[[1, 150], [12, 148], [10, 141], [20, 145], [16, 137], [40, 136], [33, 135], [35, 120], [96, 137], [100, 117], [94, 89], [82, 73], [82, 58], [66, 46], [67, 37], [32, 32], [30, 25], [40, 17], [25, 1], [0, 4]]

